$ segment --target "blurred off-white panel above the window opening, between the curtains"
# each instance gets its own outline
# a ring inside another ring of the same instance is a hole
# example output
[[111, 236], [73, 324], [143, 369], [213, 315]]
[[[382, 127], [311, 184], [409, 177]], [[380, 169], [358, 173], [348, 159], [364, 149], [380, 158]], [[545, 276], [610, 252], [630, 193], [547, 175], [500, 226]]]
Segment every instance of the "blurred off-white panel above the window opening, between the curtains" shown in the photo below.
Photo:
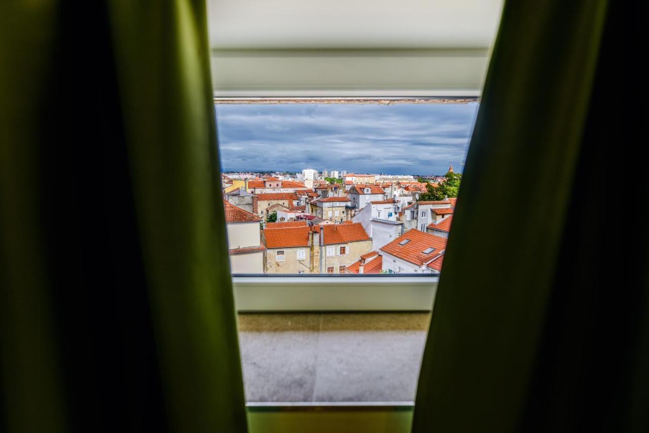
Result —
[[217, 96], [479, 94], [503, 0], [207, 0]]

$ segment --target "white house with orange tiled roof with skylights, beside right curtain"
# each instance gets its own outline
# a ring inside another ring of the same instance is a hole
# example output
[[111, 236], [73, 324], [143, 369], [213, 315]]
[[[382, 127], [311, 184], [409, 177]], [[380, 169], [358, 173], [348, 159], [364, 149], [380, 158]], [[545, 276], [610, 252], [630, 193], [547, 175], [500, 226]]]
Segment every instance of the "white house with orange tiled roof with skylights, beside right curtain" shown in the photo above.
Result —
[[447, 238], [408, 230], [380, 248], [382, 270], [388, 274], [439, 274]]

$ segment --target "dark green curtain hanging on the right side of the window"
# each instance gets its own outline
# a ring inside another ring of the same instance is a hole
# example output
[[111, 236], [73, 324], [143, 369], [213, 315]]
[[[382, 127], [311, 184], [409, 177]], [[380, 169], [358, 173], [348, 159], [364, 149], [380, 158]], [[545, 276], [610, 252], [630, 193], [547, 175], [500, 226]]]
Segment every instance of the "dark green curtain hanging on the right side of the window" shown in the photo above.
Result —
[[414, 432], [649, 431], [646, 18], [506, 1]]

